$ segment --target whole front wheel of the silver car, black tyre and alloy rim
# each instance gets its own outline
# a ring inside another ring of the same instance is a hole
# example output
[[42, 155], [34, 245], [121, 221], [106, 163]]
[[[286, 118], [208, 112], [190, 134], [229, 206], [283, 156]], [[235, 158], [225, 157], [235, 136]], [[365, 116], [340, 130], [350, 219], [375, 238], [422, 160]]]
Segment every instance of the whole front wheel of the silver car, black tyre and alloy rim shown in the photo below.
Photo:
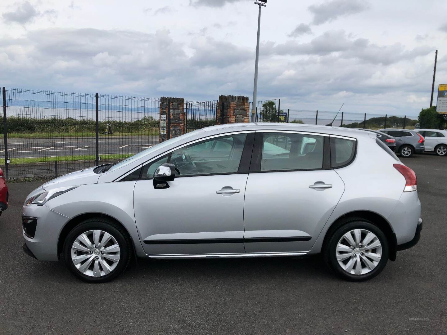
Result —
[[119, 276], [129, 264], [132, 242], [121, 226], [105, 218], [91, 218], [67, 235], [63, 258], [70, 271], [89, 283]]

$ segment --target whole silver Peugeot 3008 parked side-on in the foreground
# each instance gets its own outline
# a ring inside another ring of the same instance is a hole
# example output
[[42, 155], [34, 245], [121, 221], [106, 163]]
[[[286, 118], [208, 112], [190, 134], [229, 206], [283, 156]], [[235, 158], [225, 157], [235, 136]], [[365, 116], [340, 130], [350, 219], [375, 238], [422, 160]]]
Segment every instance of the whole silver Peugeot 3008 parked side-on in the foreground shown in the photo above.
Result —
[[338, 275], [362, 281], [417, 243], [420, 214], [413, 170], [373, 133], [232, 124], [43, 184], [23, 205], [23, 248], [94, 283], [134, 256], [320, 252]]

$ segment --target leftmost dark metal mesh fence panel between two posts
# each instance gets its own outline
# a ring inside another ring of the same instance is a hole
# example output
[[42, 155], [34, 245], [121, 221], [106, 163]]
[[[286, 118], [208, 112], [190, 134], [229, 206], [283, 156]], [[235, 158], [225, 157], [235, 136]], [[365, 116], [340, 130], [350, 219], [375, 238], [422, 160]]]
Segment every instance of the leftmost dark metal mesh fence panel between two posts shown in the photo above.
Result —
[[[63, 174], [94, 165], [95, 95], [4, 89], [9, 177]], [[3, 107], [3, 103], [2, 103]], [[55, 163], [57, 162], [57, 163]]]

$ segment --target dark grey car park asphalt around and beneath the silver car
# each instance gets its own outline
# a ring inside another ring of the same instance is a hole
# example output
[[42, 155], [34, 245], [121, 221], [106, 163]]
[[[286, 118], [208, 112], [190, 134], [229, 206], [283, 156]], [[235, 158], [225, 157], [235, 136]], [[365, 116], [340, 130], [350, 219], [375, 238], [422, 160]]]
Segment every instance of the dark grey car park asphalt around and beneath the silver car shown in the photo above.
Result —
[[422, 239], [362, 283], [312, 257], [139, 260], [113, 282], [85, 284], [63, 264], [23, 253], [21, 205], [40, 183], [10, 184], [0, 334], [445, 334], [447, 159], [404, 162], [417, 173]]

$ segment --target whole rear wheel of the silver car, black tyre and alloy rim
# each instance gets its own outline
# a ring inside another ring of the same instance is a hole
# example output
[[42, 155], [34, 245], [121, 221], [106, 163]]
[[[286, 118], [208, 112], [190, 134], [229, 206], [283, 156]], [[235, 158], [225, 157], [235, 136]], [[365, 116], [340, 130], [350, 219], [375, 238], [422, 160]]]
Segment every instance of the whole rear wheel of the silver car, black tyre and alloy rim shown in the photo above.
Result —
[[349, 281], [377, 276], [388, 261], [388, 240], [371, 222], [353, 219], [330, 233], [323, 256], [337, 275]]

